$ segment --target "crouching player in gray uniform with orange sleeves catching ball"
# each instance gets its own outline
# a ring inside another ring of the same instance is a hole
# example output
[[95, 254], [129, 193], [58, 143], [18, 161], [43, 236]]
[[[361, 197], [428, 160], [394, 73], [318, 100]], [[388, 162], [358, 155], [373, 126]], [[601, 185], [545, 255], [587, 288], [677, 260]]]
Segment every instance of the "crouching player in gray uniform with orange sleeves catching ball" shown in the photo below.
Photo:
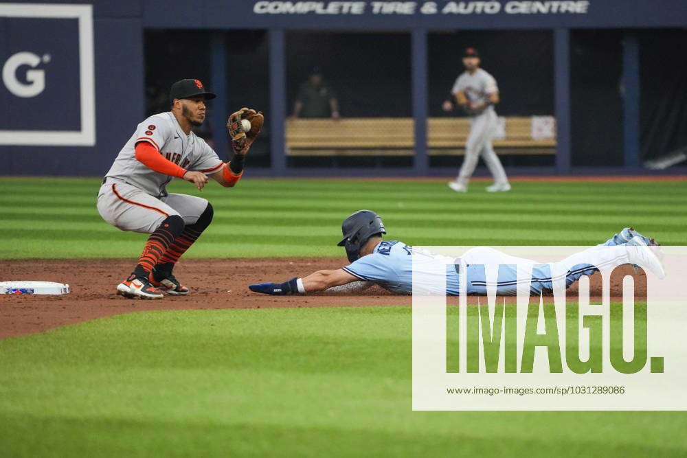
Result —
[[[233, 187], [243, 175], [245, 154], [260, 133], [264, 118], [249, 108], [229, 117], [234, 155], [224, 163], [197, 137], [192, 128], [205, 120], [205, 101], [215, 98], [199, 80], [172, 85], [172, 110], [144, 120], [117, 155], [98, 192], [100, 216], [117, 229], [150, 233], [137, 265], [117, 294], [130, 298], [160, 299], [162, 291], [187, 295], [172, 273], [179, 257], [212, 221], [212, 205], [204, 198], [169, 194], [166, 186], [181, 178], [199, 190], [214, 179]], [[242, 119], [251, 122], [245, 129]]]

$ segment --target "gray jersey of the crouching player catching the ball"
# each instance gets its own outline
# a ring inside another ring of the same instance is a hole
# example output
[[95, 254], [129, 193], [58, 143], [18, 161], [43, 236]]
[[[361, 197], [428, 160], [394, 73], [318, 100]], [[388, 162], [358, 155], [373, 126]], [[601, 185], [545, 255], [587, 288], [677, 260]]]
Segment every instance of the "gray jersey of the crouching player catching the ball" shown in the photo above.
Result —
[[150, 196], [166, 196], [166, 187], [173, 177], [150, 170], [136, 159], [135, 148], [139, 141], [153, 145], [166, 159], [186, 170], [214, 174], [224, 165], [205, 140], [193, 132], [189, 135], [183, 133], [171, 112], [150, 116], [137, 126], [106, 174], [109, 178], [138, 187]]

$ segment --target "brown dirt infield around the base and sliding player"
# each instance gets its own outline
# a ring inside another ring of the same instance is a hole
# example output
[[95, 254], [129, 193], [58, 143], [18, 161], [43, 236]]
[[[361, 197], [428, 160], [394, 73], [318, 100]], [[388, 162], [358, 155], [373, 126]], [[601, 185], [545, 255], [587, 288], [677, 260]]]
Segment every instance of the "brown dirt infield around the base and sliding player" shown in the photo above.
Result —
[[[114, 293], [115, 286], [131, 271], [131, 260], [6, 260], [0, 264], [0, 282], [67, 283], [71, 293], [61, 296], [0, 295], [0, 339], [144, 310], [411, 305], [410, 297], [393, 296], [377, 286], [355, 296], [278, 297], [252, 293], [247, 288], [250, 283], [284, 281], [346, 264], [345, 258], [183, 260], [175, 274], [192, 289], [192, 294], [144, 301], [124, 299]], [[632, 272], [627, 266], [627, 273]], [[620, 284], [611, 285], [612, 297], [620, 296], [620, 287]], [[594, 275], [592, 295], [598, 295], [599, 291], [600, 277]], [[570, 288], [569, 293], [569, 297], [576, 295], [576, 288]], [[457, 301], [458, 298], [453, 297], [449, 304], [457, 304]], [[476, 297], [469, 300], [471, 304], [476, 302]]]

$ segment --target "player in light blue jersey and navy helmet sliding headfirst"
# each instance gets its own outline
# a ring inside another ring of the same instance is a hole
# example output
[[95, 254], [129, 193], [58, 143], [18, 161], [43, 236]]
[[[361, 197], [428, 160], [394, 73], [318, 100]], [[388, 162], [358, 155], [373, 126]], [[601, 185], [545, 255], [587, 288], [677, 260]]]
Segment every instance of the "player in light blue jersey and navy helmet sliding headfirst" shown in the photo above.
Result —
[[[567, 288], [583, 275], [621, 264], [639, 264], [659, 278], [665, 275], [658, 257], [658, 244], [631, 227], [622, 229], [605, 243], [551, 264], [513, 257], [489, 247], [470, 249], [460, 260], [454, 260], [420, 251], [398, 240], [382, 240], [382, 234], [386, 233], [384, 223], [370, 210], [359, 210], [348, 216], [343, 220], [341, 232], [343, 239], [339, 246], [346, 247], [350, 265], [334, 271], [317, 271], [303, 278], [293, 277], [284, 283], [252, 284], [249, 288], [271, 295], [322, 290], [354, 293], [378, 284], [394, 294], [409, 295], [413, 292], [413, 271], [434, 276], [436, 264], [446, 266], [446, 293], [449, 296], [460, 294], [457, 265], [466, 272], [466, 293], [475, 295], [487, 294], [485, 264], [499, 265], [497, 283], [489, 284], [496, 286], [497, 295], [516, 295], [519, 284], [529, 286], [530, 294], [539, 295], [553, 290], [554, 282], [564, 281]], [[417, 256], [413, 256], [414, 253]]]

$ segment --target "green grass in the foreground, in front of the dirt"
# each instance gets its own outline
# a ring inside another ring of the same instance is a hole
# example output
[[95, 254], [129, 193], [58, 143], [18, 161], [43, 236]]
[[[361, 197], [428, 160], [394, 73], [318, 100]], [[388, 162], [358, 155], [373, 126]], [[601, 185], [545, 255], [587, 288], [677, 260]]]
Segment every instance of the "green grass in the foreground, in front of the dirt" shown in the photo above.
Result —
[[410, 309], [142, 312], [0, 341], [3, 456], [684, 456], [680, 412], [414, 412]]

